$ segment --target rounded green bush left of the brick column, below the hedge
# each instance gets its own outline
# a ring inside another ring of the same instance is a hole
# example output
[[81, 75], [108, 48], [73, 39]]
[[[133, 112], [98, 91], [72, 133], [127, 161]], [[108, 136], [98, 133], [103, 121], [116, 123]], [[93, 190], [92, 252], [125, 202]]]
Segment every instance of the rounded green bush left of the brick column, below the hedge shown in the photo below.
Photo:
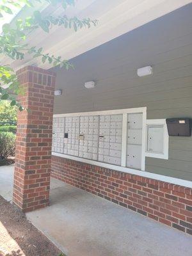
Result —
[[0, 132], [0, 159], [15, 155], [15, 134]]

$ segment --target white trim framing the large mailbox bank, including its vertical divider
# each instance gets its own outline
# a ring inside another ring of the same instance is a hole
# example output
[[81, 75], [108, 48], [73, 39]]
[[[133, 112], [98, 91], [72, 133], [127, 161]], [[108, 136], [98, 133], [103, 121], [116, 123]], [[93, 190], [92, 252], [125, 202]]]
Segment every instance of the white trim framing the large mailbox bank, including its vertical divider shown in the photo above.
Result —
[[[142, 152], [141, 152], [141, 171], [145, 171], [145, 138], [146, 138], [146, 119], [147, 119], [147, 108], [129, 108], [129, 109], [115, 109], [115, 110], [106, 110], [106, 111], [92, 111], [92, 112], [81, 112], [81, 113], [67, 113], [67, 114], [56, 114], [53, 115], [53, 117], [69, 117], [69, 116], [93, 116], [93, 115], [123, 115], [123, 127], [122, 127], [122, 164], [121, 166], [117, 167], [124, 167], [126, 166], [126, 152], [127, 152], [127, 114], [130, 113], [142, 113], [143, 114], [143, 128], [142, 128]], [[60, 154], [61, 156], [65, 158], [75, 157], [76, 161], [82, 161], [84, 162], [84, 158], [82, 157], [76, 157], [76, 156], [70, 156], [67, 154], [61, 154], [53, 152], [52, 154]], [[56, 156], [56, 155], [55, 155]], [[74, 158], [73, 158], [74, 159]], [[102, 163], [99, 161], [93, 161], [90, 159], [86, 159], [88, 161], [91, 161], [89, 163], [98, 165], [98, 163]], [[109, 164], [110, 168], [116, 168], [116, 165]], [[127, 168], [127, 167], [126, 167]], [[129, 168], [128, 168], [129, 169]]]

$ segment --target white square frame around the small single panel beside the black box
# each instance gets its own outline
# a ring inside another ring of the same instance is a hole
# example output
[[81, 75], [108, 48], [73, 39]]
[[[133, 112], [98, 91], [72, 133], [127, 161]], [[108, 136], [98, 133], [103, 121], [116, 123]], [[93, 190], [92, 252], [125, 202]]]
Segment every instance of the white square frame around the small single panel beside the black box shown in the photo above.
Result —
[[[156, 154], [152, 152], [147, 152], [147, 126], [148, 125], [163, 125], [163, 154]], [[168, 159], [168, 150], [169, 150], [169, 135], [166, 125], [166, 119], [148, 119], [146, 121], [146, 143], [145, 143], [145, 156], [146, 157], [155, 157], [161, 159]]]

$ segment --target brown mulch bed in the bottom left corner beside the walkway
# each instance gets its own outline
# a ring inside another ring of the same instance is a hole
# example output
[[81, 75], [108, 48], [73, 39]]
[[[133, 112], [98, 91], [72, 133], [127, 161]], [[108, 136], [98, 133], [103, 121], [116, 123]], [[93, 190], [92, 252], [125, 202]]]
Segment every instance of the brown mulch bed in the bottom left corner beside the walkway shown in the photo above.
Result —
[[[2, 196], [0, 196], [0, 224], [0, 256], [65, 256], [26, 219], [25, 214]], [[7, 241], [10, 237], [20, 249], [16, 248], [4, 253], [3, 248], [9, 250]], [[21, 250], [24, 253], [21, 253]]]

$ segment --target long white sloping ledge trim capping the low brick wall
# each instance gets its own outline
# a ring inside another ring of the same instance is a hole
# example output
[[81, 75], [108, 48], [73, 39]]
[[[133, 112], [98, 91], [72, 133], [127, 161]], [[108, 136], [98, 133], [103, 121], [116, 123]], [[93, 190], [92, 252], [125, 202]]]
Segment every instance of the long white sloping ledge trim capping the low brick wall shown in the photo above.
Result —
[[52, 156], [63, 157], [63, 158], [71, 159], [71, 160], [74, 160], [74, 161], [79, 161], [79, 162], [86, 163], [86, 164], [97, 165], [97, 166], [108, 168], [108, 169], [115, 170], [115, 171], [118, 171], [118, 172], [130, 173], [130, 174], [134, 174], [134, 175], [139, 175], [141, 177], [146, 177], [146, 178], [149, 178], [149, 179], [160, 180], [160, 181], [163, 181], [163, 182], [168, 182], [168, 183], [172, 183], [172, 184], [175, 184], [175, 185], [184, 186], [184, 187], [187, 187], [187, 188], [192, 188], [192, 181], [189, 181], [189, 180], [182, 180], [182, 179], [172, 178], [172, 177], [168, 177], [168, 176], [164, 176], [164, 175], [159, 175], [159, 174], [156, 174], [156, 173], [143, 172], [143, 171], [140, 171], [140, 170], [126, 168], [126, 167], [123, 167], [123, 166], [117, 166], [117, 165], [113, 165], [113, 164], [106, 164], [106, 163], [102, 163], [102, 162], [93, 161], [93, 160], [90, 160], [90, 159], [84, 159], [84, 158], [80, 158], [80, 157], [76, 157], [76, 156], [69, 156], [69, 155], [55, 153], [55, 152], [52, 152]]

